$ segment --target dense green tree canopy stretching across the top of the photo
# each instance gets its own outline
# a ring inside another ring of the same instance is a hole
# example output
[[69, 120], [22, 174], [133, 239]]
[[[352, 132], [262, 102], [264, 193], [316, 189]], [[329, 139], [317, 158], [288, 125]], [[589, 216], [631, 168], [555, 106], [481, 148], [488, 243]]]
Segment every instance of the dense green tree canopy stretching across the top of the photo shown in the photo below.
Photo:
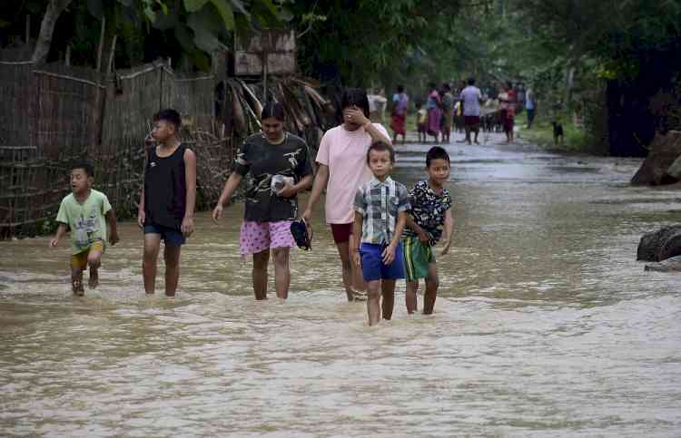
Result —
[[290, 27], [301, 73], [323, 82], [404, 83], [418, 95], [474, 75], [483, 86], [531, 83], [568, 106], [607, 88], [608, 106], [627, 96], [614, 111], [631, 112], [625, 125], [647, 126], [626, 133], [637, 141], [651, 125], [648, 100], [667, 92], [663, 106], [678, 106], [681, 95], [681, 0], [25, 0], [0, 5], [0, 44], [24, 41], [25, 15], [38, 39], [50, 5], [63, 9], [52, 61], [69, 47], [73, 63], [94, 65], [103, 20], [117, 67], [170, 57], [188, 71], [232, 50], [234, 32]]

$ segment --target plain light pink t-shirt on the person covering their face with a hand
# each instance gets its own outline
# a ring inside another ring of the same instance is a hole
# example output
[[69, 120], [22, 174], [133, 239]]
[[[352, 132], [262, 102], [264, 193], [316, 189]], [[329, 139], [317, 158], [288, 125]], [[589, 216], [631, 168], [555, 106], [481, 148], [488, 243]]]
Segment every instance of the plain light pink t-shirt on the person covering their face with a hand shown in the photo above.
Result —
[[[380, 123], [373, 125], [386, 138], [388, 131]], [[367, 151], [371, 136], [363, 127], [346, 131], [343, 125], [331, 128], [321, 137], [317, 162], [329, 166], [329, 184], [326, 186], [326, 222], [348, 224], [354, 219], [352, 202], [361, 184], [371, 179], [367, 166]]]

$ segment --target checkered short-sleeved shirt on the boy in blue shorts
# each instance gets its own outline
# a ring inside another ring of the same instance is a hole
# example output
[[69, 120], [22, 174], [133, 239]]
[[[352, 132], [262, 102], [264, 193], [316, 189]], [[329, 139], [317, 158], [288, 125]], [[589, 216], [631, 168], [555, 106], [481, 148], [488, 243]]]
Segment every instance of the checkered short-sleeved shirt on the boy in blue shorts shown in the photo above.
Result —
[[373, 177], [357, 190], [354, 209], [364, 217], [361, 242], [389, 245], [398, 213], [410, 209], [409, 192], [390, 177], [383, 182]]

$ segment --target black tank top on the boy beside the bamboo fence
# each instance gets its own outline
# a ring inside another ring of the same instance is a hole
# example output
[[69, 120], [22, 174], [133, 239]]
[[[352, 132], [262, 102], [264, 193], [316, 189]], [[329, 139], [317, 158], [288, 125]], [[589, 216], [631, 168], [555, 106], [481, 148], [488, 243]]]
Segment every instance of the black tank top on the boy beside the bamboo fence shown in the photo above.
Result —
[[156, 155], [149, 149], [149, 160], [144, 170], [144, 224], [158, 224], [180, 229], [187, 200], [184, 177], [184, 151], [180, 144], [169, 157]]

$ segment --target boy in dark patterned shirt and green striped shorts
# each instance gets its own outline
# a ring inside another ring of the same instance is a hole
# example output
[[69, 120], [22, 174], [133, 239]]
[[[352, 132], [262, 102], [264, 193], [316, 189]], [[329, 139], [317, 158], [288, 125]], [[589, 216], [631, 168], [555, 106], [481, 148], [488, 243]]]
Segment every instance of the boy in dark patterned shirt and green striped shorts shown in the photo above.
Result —
[[419, 278], [426, 279], [423, 296], [423, 314], [433, 313], [438, 295], [438, 268], [433, 247], [445, 229], [441, 255], [447, 254], [451, 245], [452, 218], [451, 195], [443, 186], [449, 180], [449, 154], [439, 146], [430, 148], [426, 154], [428, 180], [420, 180], [410, 190], [410, 214], [404, 230], [404, 265], [407, 274], [407, 311], [417, 309], [416, 292]]

